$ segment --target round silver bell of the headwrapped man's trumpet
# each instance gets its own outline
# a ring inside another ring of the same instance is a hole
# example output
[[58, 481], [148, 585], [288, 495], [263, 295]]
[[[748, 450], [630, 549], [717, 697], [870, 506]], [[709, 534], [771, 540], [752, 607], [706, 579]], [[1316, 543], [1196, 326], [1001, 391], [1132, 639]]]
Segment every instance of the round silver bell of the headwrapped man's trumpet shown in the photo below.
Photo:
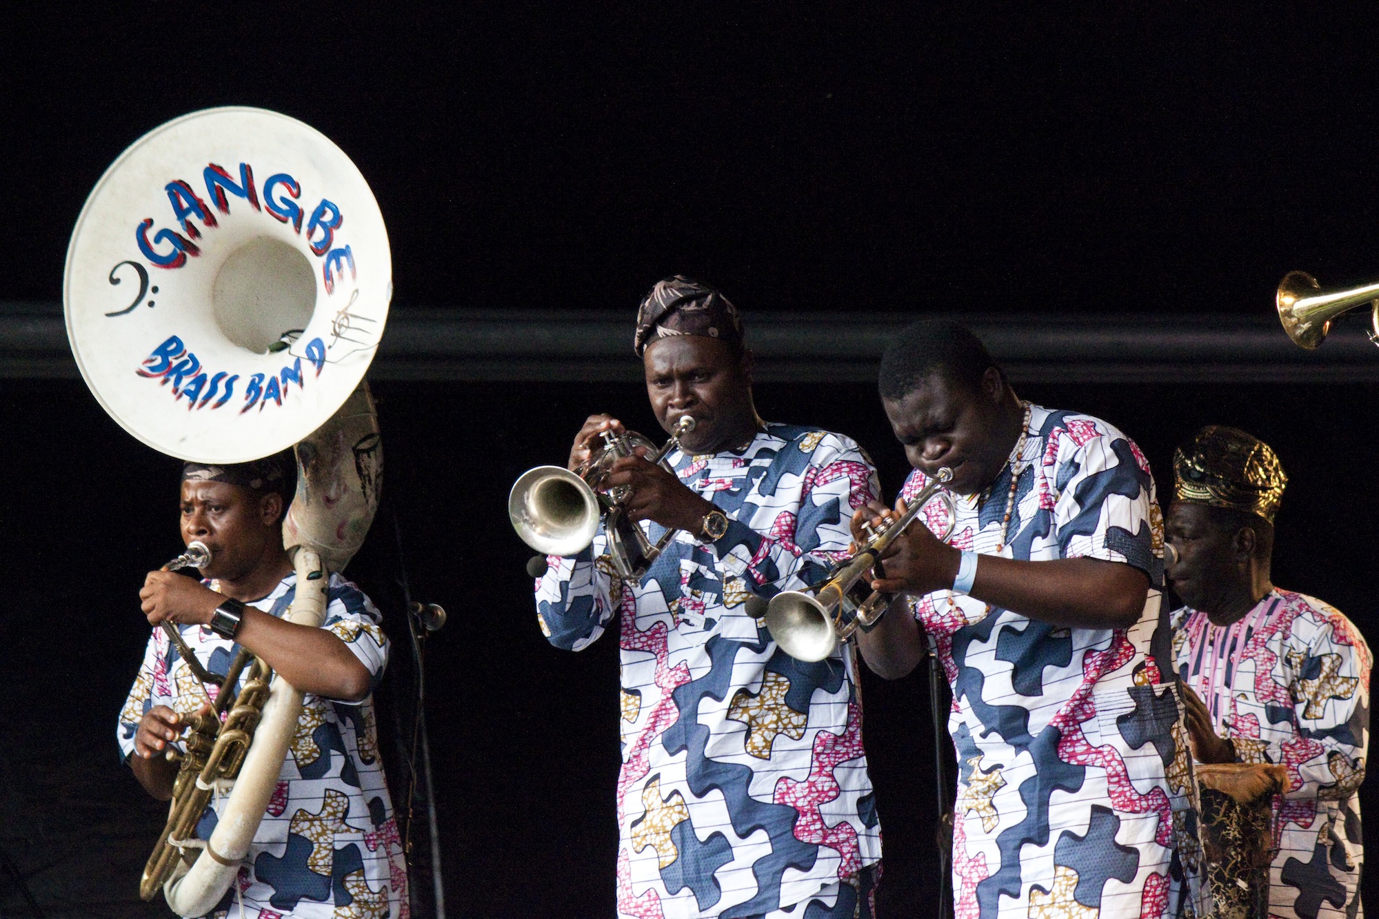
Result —
[[536, 466], [513, 483], [507, 519], [521, 541], [542, 555], [582, 552], [598, 531], [598, 495], [570, 469]]

